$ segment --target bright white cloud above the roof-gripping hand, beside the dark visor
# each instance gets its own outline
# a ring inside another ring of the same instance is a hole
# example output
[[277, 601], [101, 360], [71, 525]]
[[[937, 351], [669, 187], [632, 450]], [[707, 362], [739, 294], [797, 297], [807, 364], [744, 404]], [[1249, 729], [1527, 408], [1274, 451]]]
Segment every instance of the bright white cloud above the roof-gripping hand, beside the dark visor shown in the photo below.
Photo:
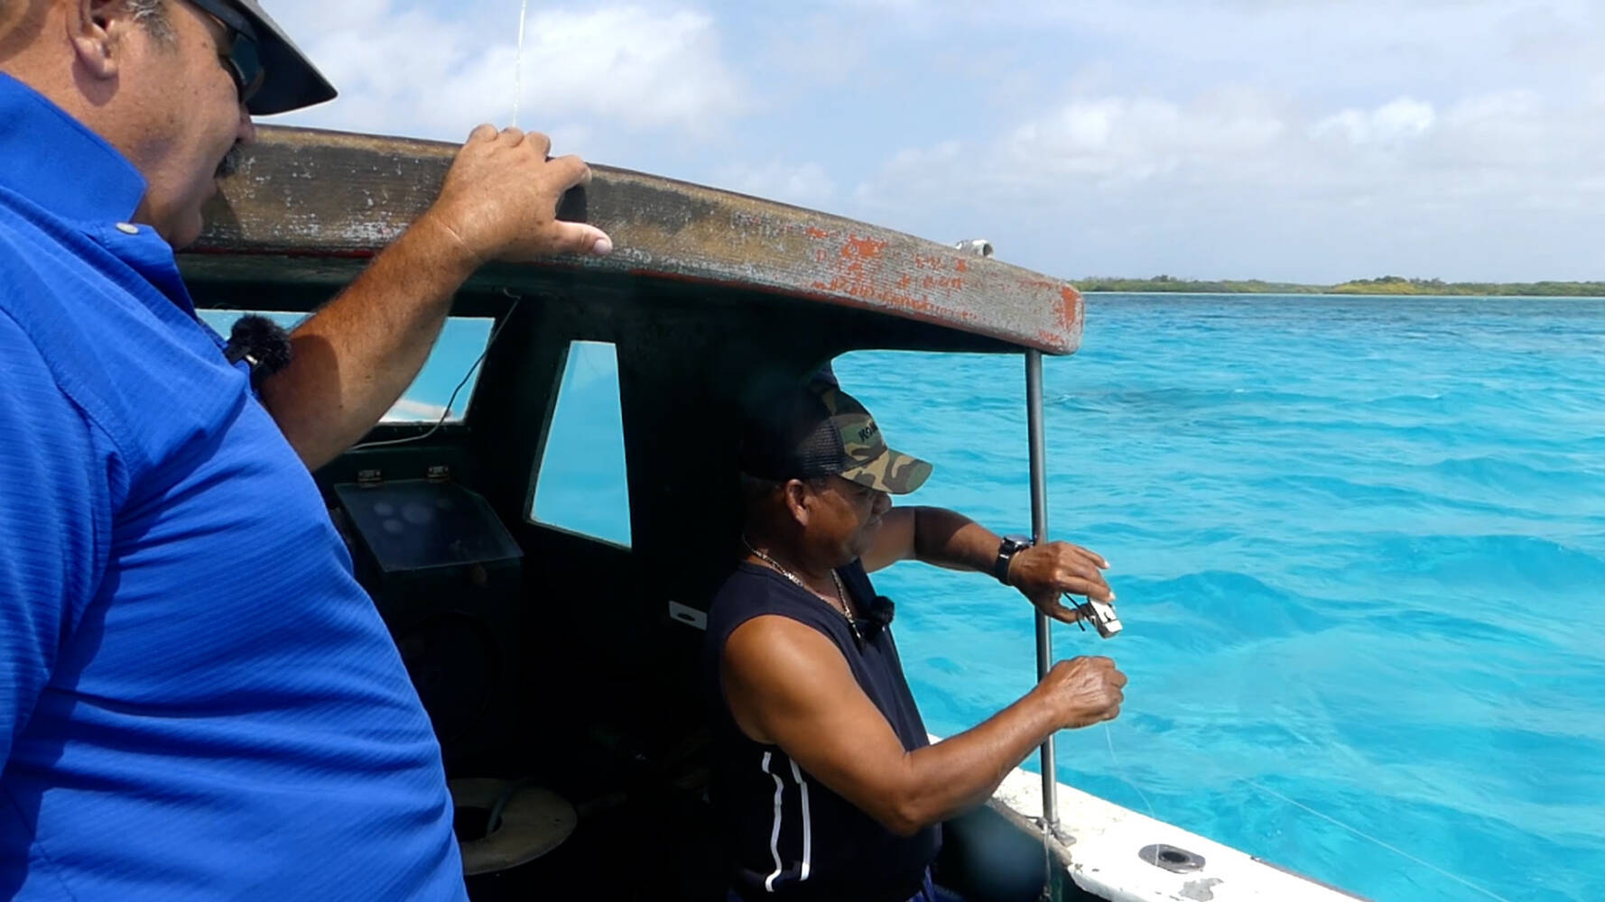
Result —
[[[461, 140], [478, 122], [510, 120], [515, 16], [396, 0], [342, 2], [331, 13], [326, 3], [284, 6], [281, 19], [305, 21], [292, 34], [315, 35], [303, 47], [342, 93], [297, 122]], [[708, 138], [746, 104], [711, 16], [636, 5], [531, 11], [522, 87], [520, 125], [586, 136], [605, 124]]]

